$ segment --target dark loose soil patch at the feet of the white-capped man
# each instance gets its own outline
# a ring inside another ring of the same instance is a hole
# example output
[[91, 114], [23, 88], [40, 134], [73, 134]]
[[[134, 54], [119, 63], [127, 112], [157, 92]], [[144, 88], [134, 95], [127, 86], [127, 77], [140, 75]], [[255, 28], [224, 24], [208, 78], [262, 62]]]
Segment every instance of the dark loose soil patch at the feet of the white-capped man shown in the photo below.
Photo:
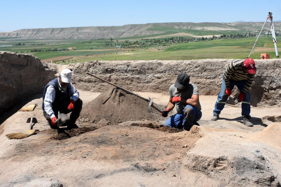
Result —
[[52, 140], [64, 140], [71, 138], [73, 136], [78, 136], [80, 134], [94, 131], [96, 130], [96, 127], [82, 127], [78, 129], [70, 129], [70, 130], [58, 130], [58, 134], [51, 137]]

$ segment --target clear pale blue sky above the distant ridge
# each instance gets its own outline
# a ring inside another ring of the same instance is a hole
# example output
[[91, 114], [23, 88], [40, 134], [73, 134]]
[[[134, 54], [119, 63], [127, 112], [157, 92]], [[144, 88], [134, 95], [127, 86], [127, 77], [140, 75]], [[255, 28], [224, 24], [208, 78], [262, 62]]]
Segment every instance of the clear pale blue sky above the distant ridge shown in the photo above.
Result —
[[118, 0], [0, 1], [0, 32], [30, 28], [113, 26], [158, 22], [262, 21], [273, 12], [281, 20], [281, 1]]

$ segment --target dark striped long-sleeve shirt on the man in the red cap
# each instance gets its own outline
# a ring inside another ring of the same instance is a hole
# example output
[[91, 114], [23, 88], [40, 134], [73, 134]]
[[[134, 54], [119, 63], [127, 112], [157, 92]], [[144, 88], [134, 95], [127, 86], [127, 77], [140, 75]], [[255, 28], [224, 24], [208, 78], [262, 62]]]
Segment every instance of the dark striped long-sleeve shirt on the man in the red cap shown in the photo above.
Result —
[[226, 87], [229, 87], [229, 79], [235, 81], [246, 80], [246, 84], [242, 90], [243, 93], [246, 93], [251, 88], [253, 79], [256, 74], [245, 73], [242, 67], [243, 62], [244, 60], [239, 60], [239, 59], [232, 60], [231, 63], [228, 64], [225, 70], [224, 80], [225, 80]]

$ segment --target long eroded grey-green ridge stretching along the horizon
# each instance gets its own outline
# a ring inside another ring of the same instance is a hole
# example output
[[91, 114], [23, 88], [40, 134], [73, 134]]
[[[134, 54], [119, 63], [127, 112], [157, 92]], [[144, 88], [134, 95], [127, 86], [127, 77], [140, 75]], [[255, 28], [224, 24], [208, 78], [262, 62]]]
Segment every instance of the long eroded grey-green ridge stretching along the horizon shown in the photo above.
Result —
[[[174, 33], [188, 33], [190, 36], [244, 33], [258, 31], [263, 22], [175, 22], [175, 23], [147, 23], [123, 26], [104, 27], [67, 27], [20, 29], [11, 32], [0, 32], [0, 38], [20, 37], [21, 39], [100, 39], [124, 38], [136, 36], [155, 36]], [[281, 29], [281, 22], [275, 22], [275, 30]]]

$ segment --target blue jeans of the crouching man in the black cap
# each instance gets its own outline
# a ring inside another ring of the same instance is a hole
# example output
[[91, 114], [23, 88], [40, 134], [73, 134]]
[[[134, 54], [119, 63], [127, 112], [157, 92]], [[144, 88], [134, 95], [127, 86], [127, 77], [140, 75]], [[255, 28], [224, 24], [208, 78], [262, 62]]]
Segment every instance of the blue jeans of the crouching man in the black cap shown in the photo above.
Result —
[[189, 129], [194, 122], [197, 122], [202, 117], [202, 112], [197, 107], [186, 105], [183, 114], [172, 115], [164, 125], [175, 127], [177, 129]]

